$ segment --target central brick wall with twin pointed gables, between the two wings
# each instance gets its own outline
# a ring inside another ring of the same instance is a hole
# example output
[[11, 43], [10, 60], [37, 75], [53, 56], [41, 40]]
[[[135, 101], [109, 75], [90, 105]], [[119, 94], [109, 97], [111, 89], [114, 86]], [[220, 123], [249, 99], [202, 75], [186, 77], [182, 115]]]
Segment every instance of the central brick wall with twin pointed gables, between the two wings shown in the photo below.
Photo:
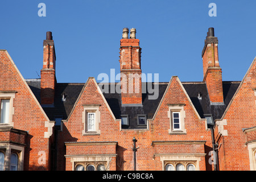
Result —
[[[170, 102], [184, 103], [185, 104], [185, 128], [187, 134], [185, 135], [170, 135], [168, 129], [170, 129], [170, 118], [168, 118], [168, 106]], [[82, 123], [82, 111], [84, 104], [100, 104], [100, 135], [82, 135], [84, 124]], [[79, 98], [71, 116], [64, 122], [63, 131], [60, 131], [58, 135], [58, 159], [57, 169], [72, 170], [71, 159], [64, 158], [64, 155], [69, 154], [107, 154], [108, 150], [102, 150], [102, 147], [93, 147], [88, 151], [87, 148], [71, 148], [66, 147], [64, 142], [108, 142], [117, 141], [116, 147], [116, 169], [117, 170], [133, 170], [133, 142], [135, 137], [138, 142], [136, 143], [137, 151], [137, 170], [162, 170], [162, 164], [158, 164], [156, 160], [153, 160], [155, 154], [155, 148], [152, 146], [153, 140], [201, 140], [205, 141], [205, 144], [200, 147], [188, 145], [174, 146], [175, 148], [167, 147], [162, 152], [169, 154], [171, 152], [177, 152], [180, 154], [208, 154], [211, 150], [210, 131], [205, 129], [205, 121], [201, 121], [191, 104], [179, 81], [175, 77], [167, 91], [166, 97], [164, 97], [162, 105], [160, 106], [158, 113], [154, 120], [149, 121], [149, 130], [137, 129], [137, 130], [120, 130], [120, 121], [113, 118], [111, 111], [106, 105], [104, 98], [100, 94], [97, 88], [94, 78], [89, 78], [84, 90], [82, 90], [81, 97]], [[173, 146], [172, 146], [173, 147]], [[160, 150], [160, 148], [156, 148]], [[88, 151], [88, 152], [85, 152]], [[204, 155], [200, 160], [200, 169], [212, 170], [212, 166], [208, 164], [210, 156]], [[158, 159], [157, 159], [158, 160]]]

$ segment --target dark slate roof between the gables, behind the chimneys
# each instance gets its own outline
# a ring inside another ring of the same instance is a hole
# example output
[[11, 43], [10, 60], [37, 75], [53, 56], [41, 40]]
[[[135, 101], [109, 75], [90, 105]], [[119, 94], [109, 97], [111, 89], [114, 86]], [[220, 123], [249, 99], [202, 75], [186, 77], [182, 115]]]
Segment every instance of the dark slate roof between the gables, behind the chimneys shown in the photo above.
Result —
[[[40, 79], [27, 79], [27, 84], [40, 103]], [[195, 106], [201, 118], [204, 114], [212, 114], [213, 119], [222, 117], [226, 107], [232, 99], [241, 81], [223, 81], [224, 105], [210, 105], [207, 86], [205, 82], [181, 82], [188, 93], [189, 98]], [[85, 83], [57, 83], [55, 90], [55, 106], [43, 107], [50, 120], [55, 120], [55, 117], [63, 117], [67, 119], [68, 115], [79, 97], [79, 94]], [[146, 83], [142, 83], [146, 84]], [[101, 88], [101, 84], [98, 84]], [[154, 84], [153, 84], [154, 85]], [[115, 83], [116, 86], [116, 83]], [[146, 114], [148, 119], [152, 119], [155, 111], [163, 97], [163, 94], [168, 86], [168, 82], [159, 82], [159, 97], [156, 100], [149, 100], [150, 93], [142, 94], [143, 106], [121, 106], [121, 94], [119, 93], [103, 93], [110, 109], [112, 109], [115, 118], [120, 119], [121, 115], [129, 115], [130, 126], [127, 128], [145, 128], [146, 126], [137, 125], [137, 115]], [[154, 86], [152, 87], [154, 88]], [[104, 89], [104, 86], [102, 87]], [[110, 86], [109, 86], [110, 90]], [[199, 100], [198, 96], [201, 96]], [[65, 101], [62, 101], [62, 95], [65, 94]]]

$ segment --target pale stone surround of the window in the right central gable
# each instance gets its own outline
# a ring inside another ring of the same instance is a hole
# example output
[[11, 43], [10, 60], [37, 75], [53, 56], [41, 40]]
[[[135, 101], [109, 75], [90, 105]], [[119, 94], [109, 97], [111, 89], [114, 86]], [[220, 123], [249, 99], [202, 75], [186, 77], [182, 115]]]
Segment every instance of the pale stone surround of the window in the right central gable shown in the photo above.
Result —
[[[168, 109], [168, 118], [170, 119], [170, 129], [168, 130], [168, 133], [179, 135], [179, 134], [187, 134], [187, 130], [185, 129], [185, 110], [184, 105], [185, 104], [167, 104]], [[180, 113], [180, 129], [174, 130], [172, 125], [172, 112], [179, 112]]]

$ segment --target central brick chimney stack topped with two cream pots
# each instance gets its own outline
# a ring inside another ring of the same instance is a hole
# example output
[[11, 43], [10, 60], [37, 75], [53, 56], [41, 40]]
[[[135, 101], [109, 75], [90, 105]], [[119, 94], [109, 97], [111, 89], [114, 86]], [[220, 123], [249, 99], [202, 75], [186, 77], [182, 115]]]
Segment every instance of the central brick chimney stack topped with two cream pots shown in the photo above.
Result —
[[123, 106], [142, 106], [141, 47], [136, 29], [123, 28], [120, 40], [121, 97]]

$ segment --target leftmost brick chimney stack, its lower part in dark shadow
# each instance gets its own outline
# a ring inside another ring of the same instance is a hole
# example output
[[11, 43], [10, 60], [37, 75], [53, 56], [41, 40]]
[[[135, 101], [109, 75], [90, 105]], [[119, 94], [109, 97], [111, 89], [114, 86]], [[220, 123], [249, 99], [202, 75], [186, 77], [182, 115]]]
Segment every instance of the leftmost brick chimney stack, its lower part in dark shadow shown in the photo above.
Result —
[[46, 33], [43, 42], [43, 69], [41, 69], [41, 105], [53, 105], [55, 94], [55, 48], [52, 32]]

